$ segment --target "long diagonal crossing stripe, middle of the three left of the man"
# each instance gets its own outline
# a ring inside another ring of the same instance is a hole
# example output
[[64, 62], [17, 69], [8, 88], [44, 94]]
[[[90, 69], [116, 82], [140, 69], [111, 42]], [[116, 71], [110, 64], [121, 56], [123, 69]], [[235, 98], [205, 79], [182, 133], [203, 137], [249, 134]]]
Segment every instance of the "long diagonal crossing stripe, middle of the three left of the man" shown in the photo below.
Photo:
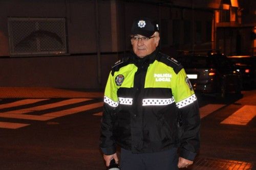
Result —
[[74, 103], [79, 103], [79, 102], [85, 102], [89, 101], [92, 99], [69, 99], [61, 102], [56, 102], [56, 103], [51, 103], [51, 104], [46, 104], [46, 105], [40, 105], [36, 107], [30, 107], [30, 108], [25, 108], [25, 109], [19, 109], [19, 110], [13, 110], [13, 111], [8, 111], [8, 112], [2, 112], [2, 113], [12, 113], [12, 114], [25, 114], [33, 111], [39, 111], [39, 110], [45, 110], [45, 109], [51, 109], [59, 106], [65, 106], [69, 104], [74, 104]]

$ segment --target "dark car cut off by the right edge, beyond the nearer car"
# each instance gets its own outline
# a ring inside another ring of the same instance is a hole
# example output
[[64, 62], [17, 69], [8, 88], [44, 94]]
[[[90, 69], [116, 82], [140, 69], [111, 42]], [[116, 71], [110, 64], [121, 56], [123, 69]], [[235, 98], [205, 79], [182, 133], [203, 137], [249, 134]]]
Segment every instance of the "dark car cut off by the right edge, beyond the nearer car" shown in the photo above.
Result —
[[242, 75], [245, 88], [256, 87], [256, 57], [252, 56], [228, 56], [228, 59], [235, 65], [237, 71]]

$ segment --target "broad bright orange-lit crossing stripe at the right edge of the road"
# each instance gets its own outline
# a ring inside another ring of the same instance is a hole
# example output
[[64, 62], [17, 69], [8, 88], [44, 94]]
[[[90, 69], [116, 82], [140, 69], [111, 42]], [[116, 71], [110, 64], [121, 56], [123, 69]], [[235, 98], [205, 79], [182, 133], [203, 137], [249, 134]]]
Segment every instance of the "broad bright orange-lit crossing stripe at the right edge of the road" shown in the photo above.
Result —
[[224, 119], [221, 124], [247, 125], [254, 116], [256, 116], [256, 106], [245, 105]]

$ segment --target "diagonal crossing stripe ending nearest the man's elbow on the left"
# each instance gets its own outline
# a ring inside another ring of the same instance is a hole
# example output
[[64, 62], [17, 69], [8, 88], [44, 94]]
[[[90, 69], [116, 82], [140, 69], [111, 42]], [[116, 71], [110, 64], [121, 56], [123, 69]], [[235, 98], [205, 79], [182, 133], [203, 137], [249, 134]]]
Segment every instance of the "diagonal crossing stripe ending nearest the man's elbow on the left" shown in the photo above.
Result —
[[102, 106], [103, 106], [103, 102], [99, 102], [99, 103], [93, 103], [90, 105], [84, 105], [84, 106], [74, 107], [71, 109], [61, 110], [61, 111], [57, 111], [57, 112], [46, 113], [46, 114], [42, 114], [41, 116], [55, 118], [55, 117], [61, 117], [61, 116], [69, 115], [69, 114], [82, 112], [82, 111], [87, 111], [90, 109], [95, 109], [95, 108], [102, 107]]

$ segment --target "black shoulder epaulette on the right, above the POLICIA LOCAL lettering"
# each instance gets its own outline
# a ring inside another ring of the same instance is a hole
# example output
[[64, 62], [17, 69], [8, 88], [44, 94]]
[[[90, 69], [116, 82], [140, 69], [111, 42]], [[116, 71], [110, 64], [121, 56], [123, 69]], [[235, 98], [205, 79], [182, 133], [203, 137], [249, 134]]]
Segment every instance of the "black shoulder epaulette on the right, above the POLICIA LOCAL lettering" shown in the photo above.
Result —
[[176, 74], [183, 68], [181, 63], [174, 59], [173, 57], [170, 57], [169, 55], [163, 54], [159, 52], [159, 61], [163, 62], [164, 64], [172, 67]]

